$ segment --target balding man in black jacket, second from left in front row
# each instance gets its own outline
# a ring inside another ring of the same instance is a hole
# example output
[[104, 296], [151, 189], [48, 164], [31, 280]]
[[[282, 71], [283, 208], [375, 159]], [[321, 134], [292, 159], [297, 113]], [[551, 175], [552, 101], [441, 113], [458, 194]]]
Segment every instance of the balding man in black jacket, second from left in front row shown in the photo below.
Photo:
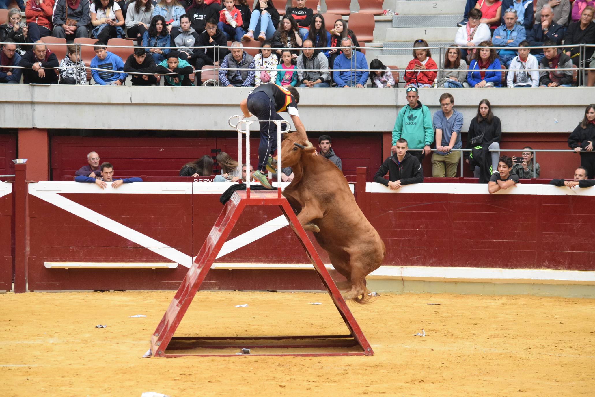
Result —
[[58, 75], [53, 69], [58, 67], [56, 54], [49, 51], [42, 41], [38, 41], [36, 44], [32, 46], [32, 51], [25, 52], [18, 64], [27, 68], [23, 69], [23, 82], [25, 84], [58, 84]]

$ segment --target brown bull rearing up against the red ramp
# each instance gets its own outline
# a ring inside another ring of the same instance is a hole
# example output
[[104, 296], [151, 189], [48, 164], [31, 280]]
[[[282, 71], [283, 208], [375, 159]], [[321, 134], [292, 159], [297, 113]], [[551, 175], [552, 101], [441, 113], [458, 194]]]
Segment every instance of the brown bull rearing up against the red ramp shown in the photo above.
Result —
[[[345, 299], [369, 300], [366, 276], [384, 260], [384, 242], [353, 198], [343, 173], [330, 160], [313, 156], [304, 134], [287, 134], [281, 143], [281, 165], [292, 167], [294, 178], [283, 195], [306, 231], [314, 232], [333, 267], [347, 278]], [[361, 298], [360, 298], [361, 296]]]

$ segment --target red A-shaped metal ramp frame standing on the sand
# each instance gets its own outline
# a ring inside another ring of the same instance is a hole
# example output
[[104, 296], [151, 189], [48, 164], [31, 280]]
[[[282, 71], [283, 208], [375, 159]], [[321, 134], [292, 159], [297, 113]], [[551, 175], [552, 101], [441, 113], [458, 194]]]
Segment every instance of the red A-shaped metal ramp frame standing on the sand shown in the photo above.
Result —
[[[218, 252], [226, 241], [231, 229], [242, 214], [242, 211], [249, 205], [277, 205], [283, 211], [290, 226], [296, 233], [297, 238], [305, 249], [315, 270], [327, 289], [343, 321], [349, 329], [349, 335], [326, 335], [326, 336], [246, 336], [246, 337], [174, 337], [177, 327], [180, 325], [184, 314], [188, 310], [192, 299], [201, 287], [206, 274], [211, 269]], [[273, 341], [268, 342], [267, 341]], [[292, 356], [336, 356], [336, 355], [373, 355], [371, 346], [359, 328], [353, 314], [347, 307], [339, 289], [328, 274], [327, 269], [320, 260], [318, 252], [302, 225], [297, 220], [295, 213], [284, 197], [280, 197], [275, 190], [256, 190], [248, 192], [236, 192], [231, 196], [230, 201], [221, 211], [217, 221], [211, 229], [208, 237], [202, 245], [195, 262], [190, 267], [180, 288], [176, 292], [170, 306], [165, 311], [161, 322], [151, 337], [151, 351], [158, 357], [181, 357], [186, 355], [199, 356], [230, 356], [234, 353], [218, 354], [212, 349], [224, 348], [255, 348], [274, 349], [274, 352], [262, 352], [251, 355], [292, 355]], [[278, 349], [293, 348], [293, 351], [279, 352]], [[352, 348], [349, 351], [321, 351], [322, 348]], [[355, 348], [355, 351], [353, 351]], [[176, 351], [175, 353], [168, 353]], [[188, 349], [208, 349], [204, 353], [183, 353], [180, 351]], [[309, 349], [314, 349], [309, 350]]]

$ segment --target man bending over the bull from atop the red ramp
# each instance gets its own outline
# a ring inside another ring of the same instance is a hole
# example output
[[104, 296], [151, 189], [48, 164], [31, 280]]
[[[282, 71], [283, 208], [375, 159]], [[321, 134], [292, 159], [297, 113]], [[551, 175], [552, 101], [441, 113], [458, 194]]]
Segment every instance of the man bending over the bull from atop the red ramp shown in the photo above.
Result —
[[253, 89], [248, 98], [240, 102], [244, 116], [255, 115], [260, 122], [261, 140], [258, 144], [258, 169], [252, 175], [262, 186], [269, 189], [271, 184], [268, 183], [265, 170], [268, 167], [271, 172], [277, 172], [276, 164], [273, 162], [273, 153], [277, 149], [277, 125], [268, 120], [283, 120], [283, 117], [277, 113], [287, 112], [292, 118], [297, 132], [305, 135], [306, 130], [297, 114], [298, 103], [299, 93], [295, 87], [281, 87], [276, 84], [262, 84]]

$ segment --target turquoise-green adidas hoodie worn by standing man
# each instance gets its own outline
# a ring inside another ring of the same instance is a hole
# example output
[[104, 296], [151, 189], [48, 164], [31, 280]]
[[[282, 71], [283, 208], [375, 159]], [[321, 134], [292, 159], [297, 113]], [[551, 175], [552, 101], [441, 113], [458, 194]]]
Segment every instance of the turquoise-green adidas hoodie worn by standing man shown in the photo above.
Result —
[[425, 145], [431, 146], [434, 142], [434, 127], [432, 126], [432, 115], [427, 106], [417, 101], [415, 108], [403, 106], [394, 122], [393, 146], [397, 139], [407, 140], [407, 146], [411, 149], [422, 149]]

